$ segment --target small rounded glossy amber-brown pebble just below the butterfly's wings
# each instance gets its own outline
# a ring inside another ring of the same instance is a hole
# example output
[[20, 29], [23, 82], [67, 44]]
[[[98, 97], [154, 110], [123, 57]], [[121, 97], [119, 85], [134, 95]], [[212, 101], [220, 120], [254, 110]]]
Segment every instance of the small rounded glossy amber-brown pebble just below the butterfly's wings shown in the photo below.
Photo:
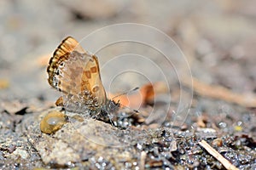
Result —
[[43, 133], [55, 133], [65, 123], [67, 123], [67, 116], [61, 111], [49, 112], [40, 122], [40, 129]]

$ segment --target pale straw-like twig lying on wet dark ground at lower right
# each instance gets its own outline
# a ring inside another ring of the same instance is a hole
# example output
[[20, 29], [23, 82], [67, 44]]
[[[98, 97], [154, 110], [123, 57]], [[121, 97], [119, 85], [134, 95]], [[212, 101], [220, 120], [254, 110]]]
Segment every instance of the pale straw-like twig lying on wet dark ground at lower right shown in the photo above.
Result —
[[226, 169], [230, 169], [230, 170], [238, 170], [237, 167], [235, 167], [234, 165], [232, 165], [230, 163], [230, 161], [228, 161], [226, 158], [224, 158], [224, 156], [220, 155], [218, 153], [217, 150], [214, 150], [212, 148], [212, 146], [210, 144], [207, 144], [207, 141], [205, 140], [201, 140], [201, 142], [198, 142], [204, 149], [206, 149], [209, 154], [211, 154], [213, 157], [215, 157], [218, 161], [220, 161], [222, 163], [222, 165], [226, 168]]

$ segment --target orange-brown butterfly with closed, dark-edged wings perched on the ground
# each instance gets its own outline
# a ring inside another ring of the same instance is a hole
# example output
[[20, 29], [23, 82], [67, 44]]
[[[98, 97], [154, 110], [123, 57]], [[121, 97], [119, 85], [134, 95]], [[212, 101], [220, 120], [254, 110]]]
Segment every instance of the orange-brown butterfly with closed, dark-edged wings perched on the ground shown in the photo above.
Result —
[[55, 49], [47, 72], [49, 85], [62, 93], [55, 104], [66, 111], [98, 113], [119, 106], [107, 99], [96, 55], [85, 51], [73, 37], [66, 37]]

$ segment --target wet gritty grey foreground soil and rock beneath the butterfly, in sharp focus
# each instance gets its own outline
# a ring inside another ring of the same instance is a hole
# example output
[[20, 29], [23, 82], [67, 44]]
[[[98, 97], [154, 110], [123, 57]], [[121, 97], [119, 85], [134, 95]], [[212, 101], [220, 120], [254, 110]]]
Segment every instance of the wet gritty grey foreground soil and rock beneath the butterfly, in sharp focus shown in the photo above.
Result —
[[50, 111], [61, 108], [2, 111], [3, 169], [223, 169], [201, 147], [201, 140], [206, 140], [238, 168], [256, 166], [255, 115], [246, 109], [238, 108], [235, 114], [218, 111], [218, 115], [206, 111], [201, 116], [189, 116], [182, 127], [168, 119], [161, 124], [146, 124], [142, 117], [138, 119], [127, 110], [117, 111], [122, 116], [111, 123], [66, 112], [69, 122], [60, 130], [42, 133], [40, 122]]

